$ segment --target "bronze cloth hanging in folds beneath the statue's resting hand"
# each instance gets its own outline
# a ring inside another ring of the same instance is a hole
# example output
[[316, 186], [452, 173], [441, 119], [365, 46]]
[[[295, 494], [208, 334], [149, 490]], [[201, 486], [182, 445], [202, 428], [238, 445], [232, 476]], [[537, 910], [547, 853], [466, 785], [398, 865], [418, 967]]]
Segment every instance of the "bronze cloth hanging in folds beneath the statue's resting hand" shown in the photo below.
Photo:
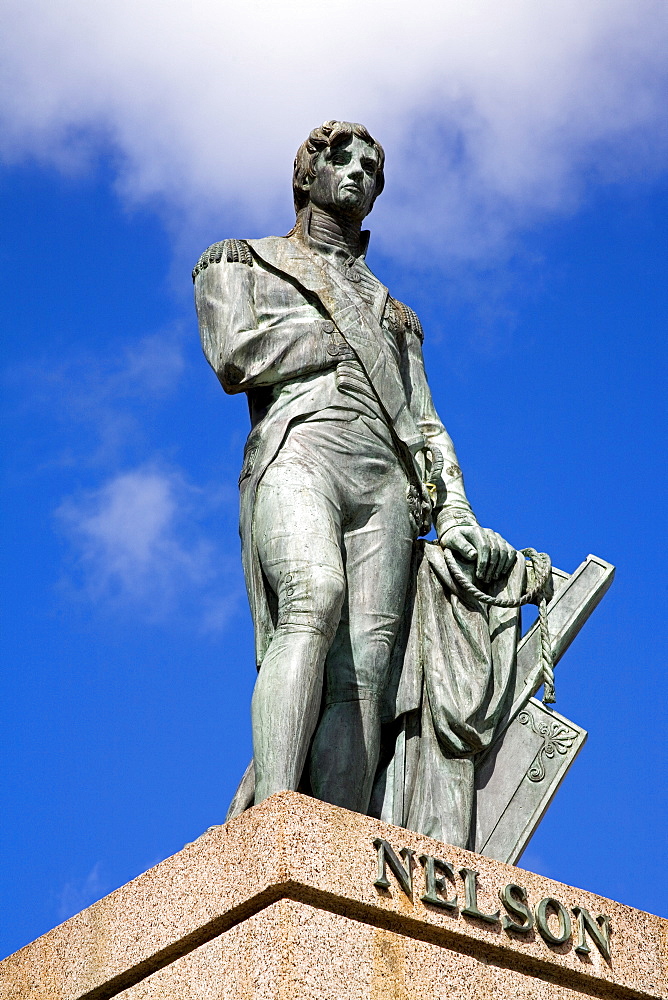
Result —
[[[471, 564], [462, 569], [470, 574]], [[494, 596], [518, 600], [518, 558]], [[471, 843], [476, 762], [505, 724], [515, 688], [519, 608], [460, 595], [440, 545], [417, 541], [406, 617], [383, 706], [369, 812], [446, 843]]]

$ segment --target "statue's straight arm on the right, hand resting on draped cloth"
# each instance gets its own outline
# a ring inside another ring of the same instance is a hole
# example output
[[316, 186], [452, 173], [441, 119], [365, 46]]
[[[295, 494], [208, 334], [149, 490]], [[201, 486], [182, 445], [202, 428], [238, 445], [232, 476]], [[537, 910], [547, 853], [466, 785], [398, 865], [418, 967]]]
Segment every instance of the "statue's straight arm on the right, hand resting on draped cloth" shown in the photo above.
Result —
[[440, 473], [431, 476], [435, 488], [434, 526], [443, 548], [453, 549], [465, 559], [476, 561], [476, 576], [483, 581], [507, 573], [515, 562], [515, 549], [491, 528], [483, 528], [466, 496], [452, 438], [443, 426], [429, 389], [422, 354], [422, 328], [411, 311], [407, 335], [410, 408], [431, 451], [431, 466]]

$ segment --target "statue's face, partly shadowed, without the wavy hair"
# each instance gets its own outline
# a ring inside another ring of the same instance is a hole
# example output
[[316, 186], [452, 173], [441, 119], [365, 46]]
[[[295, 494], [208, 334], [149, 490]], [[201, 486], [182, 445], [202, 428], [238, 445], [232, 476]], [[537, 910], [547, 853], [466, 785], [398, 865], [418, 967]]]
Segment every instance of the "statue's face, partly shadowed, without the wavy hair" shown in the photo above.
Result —
[[334, 149], [323, 149], [308, 184], [311, 203], [361, 221], [371, 211], [378, 165], [374, 147], [356, 135]]

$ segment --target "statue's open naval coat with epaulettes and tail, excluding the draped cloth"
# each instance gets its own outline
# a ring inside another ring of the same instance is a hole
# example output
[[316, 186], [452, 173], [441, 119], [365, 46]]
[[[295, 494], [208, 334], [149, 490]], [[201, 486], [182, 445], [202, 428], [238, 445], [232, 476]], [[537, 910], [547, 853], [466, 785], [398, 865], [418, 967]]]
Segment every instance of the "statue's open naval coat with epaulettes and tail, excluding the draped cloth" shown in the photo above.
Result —
[[246, 392], [249, 401], [252, 427], [239, 479], [240, 530], [258, 666], [274, 624], [252, 537], [255, 492], [290, 424], [321, 405], [315, 380], [313, 394], [301, 393], [287, 405], [281, 401], [282, 386], [297, 380], [308, 385], [349, 351], [378, 397], [398, 460], [414, 483], [417, 505], [427, 502], [422, 476], [425, 449], [432, 445], [454, 473], [447, 488], [444, 473], [438, 477], [436, 515], [450, 505], [466, 523], [476, 523], [452, 441], [427, 385], [419, 321], [390, 299], [385, 286], [375, 284], [369, 303], [355, 282], [297, 236], [226, 240], [214, 244], [195, 268], [204, 353], [225, 391]]

